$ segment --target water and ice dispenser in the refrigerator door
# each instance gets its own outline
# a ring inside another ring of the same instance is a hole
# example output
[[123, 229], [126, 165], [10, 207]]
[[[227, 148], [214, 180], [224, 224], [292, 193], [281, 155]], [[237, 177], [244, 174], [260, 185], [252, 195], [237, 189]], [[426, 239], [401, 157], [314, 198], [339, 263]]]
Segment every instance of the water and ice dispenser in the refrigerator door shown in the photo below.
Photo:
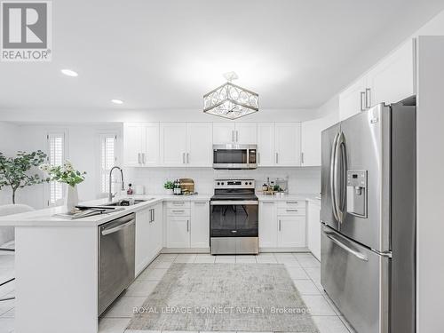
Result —
[[367, 218], [367, 170], [347, 170], [347, 212]]

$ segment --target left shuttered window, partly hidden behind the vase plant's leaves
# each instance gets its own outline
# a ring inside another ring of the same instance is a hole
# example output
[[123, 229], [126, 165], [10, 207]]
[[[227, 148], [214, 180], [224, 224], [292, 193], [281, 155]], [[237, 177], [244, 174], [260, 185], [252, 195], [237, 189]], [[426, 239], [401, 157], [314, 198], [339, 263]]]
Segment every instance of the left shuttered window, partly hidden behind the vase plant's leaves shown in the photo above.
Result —
[[[62, 165], [65, 161], [65, 133], [49, 133], [48, 139], [48, 163]], [[48, 206], [57, 204], [63, 199], [62, 184], [51, 181]]]

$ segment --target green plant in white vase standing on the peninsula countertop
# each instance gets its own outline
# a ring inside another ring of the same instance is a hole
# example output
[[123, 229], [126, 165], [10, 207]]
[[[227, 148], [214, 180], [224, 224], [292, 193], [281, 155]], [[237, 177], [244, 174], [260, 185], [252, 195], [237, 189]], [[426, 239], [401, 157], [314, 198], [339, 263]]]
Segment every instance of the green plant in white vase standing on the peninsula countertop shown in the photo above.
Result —
[[63, 165], [42, 164], [39, 168], [50, 175], [50, 180], [67, 184], [65, 206], [67, 211], [73, 210], [79, 203], [77, 184], [83, 182], [86, 172], [75, 170], [69, 161]]

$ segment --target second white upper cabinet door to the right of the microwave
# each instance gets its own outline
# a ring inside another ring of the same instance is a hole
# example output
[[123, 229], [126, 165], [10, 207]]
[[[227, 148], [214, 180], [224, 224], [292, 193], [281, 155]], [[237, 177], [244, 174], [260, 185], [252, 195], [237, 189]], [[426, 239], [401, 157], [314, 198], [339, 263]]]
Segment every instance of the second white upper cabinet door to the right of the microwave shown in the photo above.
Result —
[[274, 123], [274, 163], [301, 165], [301, 123]]

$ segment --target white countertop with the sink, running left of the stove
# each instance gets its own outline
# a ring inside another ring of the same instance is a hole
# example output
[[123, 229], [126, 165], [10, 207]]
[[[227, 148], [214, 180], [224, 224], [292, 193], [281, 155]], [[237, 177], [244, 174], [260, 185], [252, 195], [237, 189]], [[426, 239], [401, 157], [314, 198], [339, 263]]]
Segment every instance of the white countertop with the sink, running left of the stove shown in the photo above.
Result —
[[[99, 226], [107, 223], [115, 218], [123, 217], [134, 211], [143, 210], [149, 206], [163, 201], [209, 201], [212, 194], [195, 194], [195, 195], [164, 195], [164, 194], [145, 194], [145, 195], [131, 195], [116, 197], [113, 202], [125, 198], [135, 198], [149, 200], [147, 202], [140, 202], [132, 206], [117, 207], [118, 211], [110, 211], [106, 214], [94, 215], [88, 218], [69, 219], [69, 218], [57, 218], [54, 214], [64, 213], [65, 209], [61, 206], [47, 208], [44, 210], [28, 211], [26, 213], [8, 215], [0, 217], [0, 226]], [[107, 198], [92, 200], [89, 202], [80, 202], [79, 204], [85, 206], [100, 206], [107, 204]]]

